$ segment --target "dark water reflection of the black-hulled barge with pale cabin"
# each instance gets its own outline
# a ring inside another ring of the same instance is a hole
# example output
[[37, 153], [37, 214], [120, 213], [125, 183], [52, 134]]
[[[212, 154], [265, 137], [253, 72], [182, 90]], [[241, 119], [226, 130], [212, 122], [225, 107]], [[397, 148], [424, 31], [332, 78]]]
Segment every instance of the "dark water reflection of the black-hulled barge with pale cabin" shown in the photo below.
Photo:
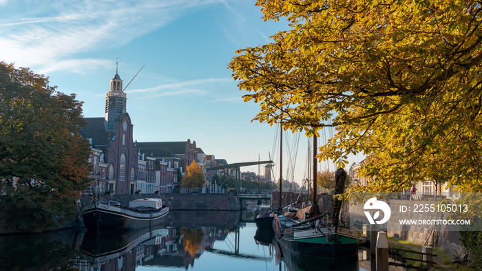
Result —
[[92, 264], [104, 264], [112, 259], [120, 259], [124, 254], [139, 245], [158, 245], [169, 234], [163, 224], [153, 228], [142, 228], [124, 232], [85, 233], [81, 244], [81, 257]]

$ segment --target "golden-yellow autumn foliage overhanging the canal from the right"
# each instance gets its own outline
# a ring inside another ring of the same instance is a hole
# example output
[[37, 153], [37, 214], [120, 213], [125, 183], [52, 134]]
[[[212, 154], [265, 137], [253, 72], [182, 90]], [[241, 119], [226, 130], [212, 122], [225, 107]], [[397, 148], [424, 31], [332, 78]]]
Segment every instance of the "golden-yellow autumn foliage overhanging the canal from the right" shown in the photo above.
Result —
[[[320, 157], [364, 152], [366, 189], [439, 176], [482, 191], [482, 5], [477, 1], [259, 0], [289, 21], [229, 68], [255, 120], [335, 135]], [[440, 176], [443, 174], [443, 176]]]

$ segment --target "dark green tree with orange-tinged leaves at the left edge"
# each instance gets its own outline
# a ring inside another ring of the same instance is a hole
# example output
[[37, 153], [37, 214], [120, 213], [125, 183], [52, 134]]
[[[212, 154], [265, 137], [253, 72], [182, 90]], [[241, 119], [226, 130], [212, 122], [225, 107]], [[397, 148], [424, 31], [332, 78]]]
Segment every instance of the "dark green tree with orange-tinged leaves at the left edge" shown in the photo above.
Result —
[[0, 63], [0, 217], [41, 231], [76, 215], [89, 180], [82, 103], [27, 68]]

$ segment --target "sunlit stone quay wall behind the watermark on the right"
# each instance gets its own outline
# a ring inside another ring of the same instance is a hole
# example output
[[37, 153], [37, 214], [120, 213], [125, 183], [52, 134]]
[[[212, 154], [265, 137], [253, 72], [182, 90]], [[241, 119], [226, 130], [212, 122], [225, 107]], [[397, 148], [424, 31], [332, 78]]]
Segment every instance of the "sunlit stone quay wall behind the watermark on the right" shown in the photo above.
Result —
[[[413, 206], [414, 204], [428, 204], [430, 206], [430, 204], [437, 204], [437, 201], [390, 199], [386, 201], [386, 203], [388, 206], [390, 206], [390, 210], [392, 210], [390, 220], [386, 223], [388, 237], [397, 237], [399, 239], [406, 240], [410, 243], [417, 243], [419, 245], [437, 246], [448, 254], [452, 255], [460, 254], [463, 251], [462, 243], [459, 240], [459, 226], [400, 225], [399, 220], [401, 219], [445, 219], [447, 214], [443, 213], [414, 213], [412, 211], [398, 211], [400, 210], [400, 206]], [[365, 221], [364, 224], [368, 224], [363, 208], [363, 204], [350, 206], [350, 223], [353, 224], [354, 220], [357, 220]], [[368, 224], [367, 229], [369, 234], [370, 224]]]

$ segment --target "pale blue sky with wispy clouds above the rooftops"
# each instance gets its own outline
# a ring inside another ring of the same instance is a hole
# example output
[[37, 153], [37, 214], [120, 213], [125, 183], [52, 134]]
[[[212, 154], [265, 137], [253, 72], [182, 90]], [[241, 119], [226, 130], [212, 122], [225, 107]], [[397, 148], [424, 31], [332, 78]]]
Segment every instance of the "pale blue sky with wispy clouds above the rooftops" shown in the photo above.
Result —
[[[261, 17], [252, 0], [0, 0], [0, 61], [30, 67], [59, 91], [76, 94], [85, 117], [104, 116], [116, 58], [124, 86], [145, 65], [125, 89], [136, 140], [189, 138], [229, 163], [256, 161], [258, 154], [269, 160], [275, 127], [251, 122], [259, 107], [243, 102], [227, 69], [235, 50], [269, 43], [287, 28]], [[293, 142], [293, 134], [285, 136]], [[299, 183], [306, 145], [302, 135]]]

